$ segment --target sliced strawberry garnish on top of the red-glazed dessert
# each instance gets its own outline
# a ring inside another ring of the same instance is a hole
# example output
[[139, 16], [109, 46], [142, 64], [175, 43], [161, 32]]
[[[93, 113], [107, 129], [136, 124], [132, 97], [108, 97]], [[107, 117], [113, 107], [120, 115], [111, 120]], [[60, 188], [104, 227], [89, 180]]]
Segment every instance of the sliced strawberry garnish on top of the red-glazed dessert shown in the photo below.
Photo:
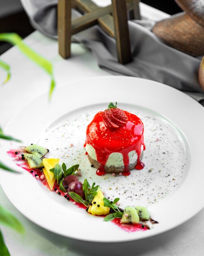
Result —
[[125, 112], [116, 106], [103, 111], [102, 117], [103, 123], [109, 128], [123, 127], [128, 121], [128, 117]]

